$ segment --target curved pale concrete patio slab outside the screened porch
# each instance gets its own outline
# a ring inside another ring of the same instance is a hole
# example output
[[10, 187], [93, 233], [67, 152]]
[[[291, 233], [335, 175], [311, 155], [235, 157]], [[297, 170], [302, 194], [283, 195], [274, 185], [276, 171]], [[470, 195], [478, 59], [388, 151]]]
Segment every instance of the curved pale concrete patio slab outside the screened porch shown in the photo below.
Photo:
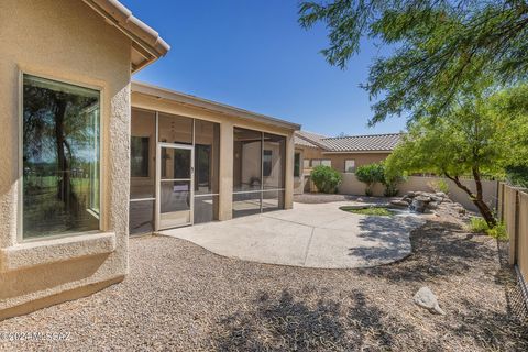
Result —
[[[161, 232], [241, 260], [319, 268], [369, 267], [410, 254], [409, 233], [425, 220], [409, 213], [370, 217], [339, 207], [295, 204], [282, 210]], [[424, 217], [424, 216], [422, 216]]]

